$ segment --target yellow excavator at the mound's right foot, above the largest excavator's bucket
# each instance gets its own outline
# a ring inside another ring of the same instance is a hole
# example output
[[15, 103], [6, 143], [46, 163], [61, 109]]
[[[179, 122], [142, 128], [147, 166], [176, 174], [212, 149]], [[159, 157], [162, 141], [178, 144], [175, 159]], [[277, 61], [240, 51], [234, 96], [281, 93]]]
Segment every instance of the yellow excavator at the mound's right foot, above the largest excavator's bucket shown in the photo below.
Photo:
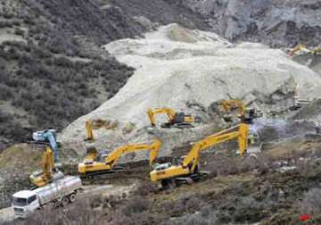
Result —
[[222, 100], [219, 101], [218, 104], [225, 112], [227, 112], [227, 114], [224, 115], [224, 119], [226, 121], [232, 120], [233, 116], [231, 115], [231, 112], [235, 109], [239, 112], [237, 117], [239, 117], [244, 123], [251, 123], [254, 119], [261, 116], [257, 109], [246, 108], [243, 101], [239, 99]]

